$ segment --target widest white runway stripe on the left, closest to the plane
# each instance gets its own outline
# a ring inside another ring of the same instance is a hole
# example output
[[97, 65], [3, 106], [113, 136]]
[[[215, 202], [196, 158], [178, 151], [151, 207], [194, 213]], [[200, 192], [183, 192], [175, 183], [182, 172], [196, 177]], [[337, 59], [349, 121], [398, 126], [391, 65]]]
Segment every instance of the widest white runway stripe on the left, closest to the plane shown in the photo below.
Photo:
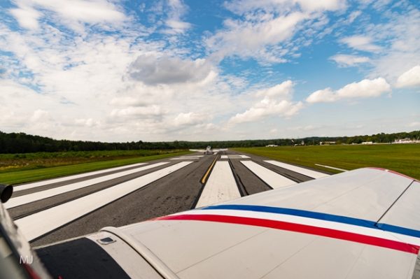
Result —
[[80, 199], [69, 201], [60, 204], [59, 206], [15, 220], [15, 224], [18, 225], [22, 234], [27, 238], [27, 241], [31, 241], [38, 236], [48, 233], [48, 231], [57, 229], [78, 217], [86, 215], [122, 196], [153, 183], [153, 181], [167, 176], [169, 173], [178, 171], [188, 164], [191, 164], [191, 162], [179, 162], [178, 164], [168, 166], [165, 169], [148, 173], [145, 176], [83, 196]]

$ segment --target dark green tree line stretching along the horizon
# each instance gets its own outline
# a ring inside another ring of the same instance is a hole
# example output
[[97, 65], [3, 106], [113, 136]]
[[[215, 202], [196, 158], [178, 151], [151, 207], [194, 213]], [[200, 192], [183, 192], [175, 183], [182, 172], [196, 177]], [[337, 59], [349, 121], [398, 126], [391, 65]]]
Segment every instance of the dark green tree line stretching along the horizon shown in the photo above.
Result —
[[97, 150], [170, 150], [206, 148], [248, 148], [265, 145], [295, 145], [302, 141], [305, 145], [318, 145], [321, 141], [335, 141], [336, 144], [352, 144], [372, 141], [373, 143], [392, 143], [397, 139], [419, 139], [419, 131], [400, 132], [394, 134], [373, 134], [365, 136], [279, 138], [244, 141], [164, 141], [146, 142], [132, 141], [126, 143], [104, 143], [99, 141], [55, 140], [44, 136], [33, 136], [25, 133], [4, 133], [0, 131], [0, 153], [28, 152], [66, 152]]

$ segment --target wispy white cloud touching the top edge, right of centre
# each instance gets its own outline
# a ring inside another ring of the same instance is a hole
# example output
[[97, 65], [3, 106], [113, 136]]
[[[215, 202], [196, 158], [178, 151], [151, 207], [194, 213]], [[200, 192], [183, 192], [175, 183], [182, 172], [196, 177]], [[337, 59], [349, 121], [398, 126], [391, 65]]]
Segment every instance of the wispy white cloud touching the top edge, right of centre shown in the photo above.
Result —
[[211, 58], [274, 64], [299, 56], [297, 51], [311, 44], [309, 37], [328, 23], [324, 12], [345, 8], [345, 1], [239, 0], [225, 2], [225, 7], [239, 17], [225, 20], [223, 29], [205, 40]]

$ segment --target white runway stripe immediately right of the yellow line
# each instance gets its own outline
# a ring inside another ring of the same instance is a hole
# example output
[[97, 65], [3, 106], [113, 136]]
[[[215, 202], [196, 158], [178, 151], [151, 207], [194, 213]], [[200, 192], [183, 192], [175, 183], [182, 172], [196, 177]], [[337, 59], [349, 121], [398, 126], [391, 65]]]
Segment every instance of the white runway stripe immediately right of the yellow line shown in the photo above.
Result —
[[241, 197], [229, 162], [216, 162], [209, 180], [197, 202], [197, 207], [230, 201]]

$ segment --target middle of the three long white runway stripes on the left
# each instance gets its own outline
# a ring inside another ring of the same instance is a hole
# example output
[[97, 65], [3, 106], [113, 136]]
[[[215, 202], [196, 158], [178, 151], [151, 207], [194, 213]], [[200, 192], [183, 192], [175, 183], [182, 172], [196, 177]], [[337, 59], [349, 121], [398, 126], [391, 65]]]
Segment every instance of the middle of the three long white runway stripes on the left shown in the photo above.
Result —
[[139, 171], [145, 171], [146, 169], [152, 169], [155, 168], [156, 166], [162, 166], [164, 164], [168, 164], [168, 162], [160, 162], [160, 163], [156, 163], [156, 164], [151, 164], [148, 166], [141, 166], [140, 168], [137, 169], [130, 169], [129, 171], [121, 171], [118, 173], [113, 173], [113, 174], [109, 174], [108, 176], [101, 176], [99, 178], [93, 178], [90, 180], [83, 180], [80, 181], [78, 183], [72, 183], [72, 184], [68, 184], [68, 185], [64, 185], [61, 187], [55, 187], [52, 189], [47, 189], [44, 191], [40, 191], [40, 192], [35, 192], [35, 193], [31, 193], [31, 194], [26, 194], [23, 196], [17, 196], [15, 198], [10, 199], [7, 203], [4, 204], [4, 206], [6, 206], [6, 208], [13, 208], [16, 206], [22, 206], [22, 204], [25, 203], [31, 203], [33, 201], [39, 201], [40, 199], [46, 199], [49, 198], [50, 196], [56, 196], [57, 194], [63, 194], [66, 192], [70, 192], [76, 189], [80, 189], [83, 187], [87, 187], [90, 185], [94, 185], [97, 183], [102, 183], [104, 181], [107, 180], [111, 180], [114, 178], [119, 178], [121, 176], [127, 176], [129, 174], [132, 173], [137, 173]]

